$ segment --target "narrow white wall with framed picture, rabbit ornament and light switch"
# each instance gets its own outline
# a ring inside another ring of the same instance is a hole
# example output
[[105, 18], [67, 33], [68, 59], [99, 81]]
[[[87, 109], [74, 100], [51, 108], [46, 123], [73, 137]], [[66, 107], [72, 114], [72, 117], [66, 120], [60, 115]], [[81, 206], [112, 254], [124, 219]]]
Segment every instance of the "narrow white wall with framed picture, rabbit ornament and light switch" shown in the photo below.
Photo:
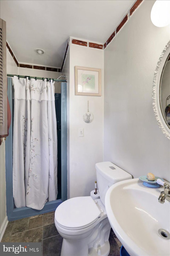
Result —
[[[95, 163], [103, 161], [103, 57], [103, 50], [70, 43], [68, 198], [90, 195], [96, 180]], [[75, 95], [75, 66], [101, 69], [101, 97]], [[94, 115], [91, 123], [83, 121], [87, 101]], [[84, 137], [78, 137], [79, 128], [84, 128]]]

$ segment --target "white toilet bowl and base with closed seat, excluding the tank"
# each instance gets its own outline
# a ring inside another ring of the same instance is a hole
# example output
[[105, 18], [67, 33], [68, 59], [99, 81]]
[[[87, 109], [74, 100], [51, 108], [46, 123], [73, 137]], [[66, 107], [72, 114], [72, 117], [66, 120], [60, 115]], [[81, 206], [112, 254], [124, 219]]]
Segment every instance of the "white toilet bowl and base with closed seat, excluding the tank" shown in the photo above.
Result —
[[57, 207], [54, 223], [63, 237], [61, 256], [107, 256], [111, 225], [100, 199], [74, 197]]

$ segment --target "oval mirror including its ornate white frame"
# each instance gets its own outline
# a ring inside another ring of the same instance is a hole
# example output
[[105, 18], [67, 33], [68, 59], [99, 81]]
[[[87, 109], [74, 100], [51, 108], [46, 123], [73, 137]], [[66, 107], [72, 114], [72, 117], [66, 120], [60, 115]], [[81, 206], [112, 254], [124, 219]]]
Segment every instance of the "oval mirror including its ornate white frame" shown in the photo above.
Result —
[[156, 65], [152, 104], [159, 127], [170, 139], [170, 41], [165, 46]]

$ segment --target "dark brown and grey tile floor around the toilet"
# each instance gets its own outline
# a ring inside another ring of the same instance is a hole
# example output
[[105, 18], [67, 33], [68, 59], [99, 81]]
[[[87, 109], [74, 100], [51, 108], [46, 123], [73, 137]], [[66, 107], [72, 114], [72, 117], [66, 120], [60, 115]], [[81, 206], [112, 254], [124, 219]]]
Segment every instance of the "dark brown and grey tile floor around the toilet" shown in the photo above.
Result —
[[[41, 242], [42, 256], [60, 256], [62, 237], [54, 224], [54, 212], [9, 221], [1, 242]], [[120, 256], [121, 243], [111, 229], [109, 256]]]

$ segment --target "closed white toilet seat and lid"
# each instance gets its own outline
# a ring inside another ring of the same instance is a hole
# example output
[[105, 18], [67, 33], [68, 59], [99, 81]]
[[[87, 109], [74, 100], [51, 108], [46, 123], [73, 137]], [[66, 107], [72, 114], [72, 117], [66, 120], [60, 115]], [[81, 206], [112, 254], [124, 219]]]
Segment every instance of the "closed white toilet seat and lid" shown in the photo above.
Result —
[[55, 211], [55, 221], [64, 229], [78, 230], [92, 225], [101, 212], [91, 197], [74, 197], [64, 201]]

